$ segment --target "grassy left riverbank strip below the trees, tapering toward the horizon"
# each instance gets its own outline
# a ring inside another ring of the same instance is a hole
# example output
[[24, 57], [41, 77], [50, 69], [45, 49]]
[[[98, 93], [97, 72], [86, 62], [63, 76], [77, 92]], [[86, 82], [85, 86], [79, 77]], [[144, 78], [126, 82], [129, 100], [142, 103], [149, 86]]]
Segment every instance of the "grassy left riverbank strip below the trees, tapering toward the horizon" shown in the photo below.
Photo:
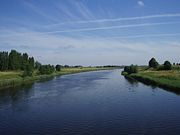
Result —
[[114, 68], [96, 68], [96, 67], [78, 67], [78, 68], [62, 68], [59, 72], [54, 72], [53, 74], [48, 75], [38, 75], [36, 71], [34, 71], [32, 77], [22, 77], [22, 71], [7, 71], [0, 72], [0, 89], [12, 88], [17, 86], [23, 86], [32, 84], [36, 81], [43, 81], [47, 79], [51, 79], [55, 76], [74, 74], [80, 72], [88, 72], [88, 71], [98, 71], [98, 70], [110, 70]]

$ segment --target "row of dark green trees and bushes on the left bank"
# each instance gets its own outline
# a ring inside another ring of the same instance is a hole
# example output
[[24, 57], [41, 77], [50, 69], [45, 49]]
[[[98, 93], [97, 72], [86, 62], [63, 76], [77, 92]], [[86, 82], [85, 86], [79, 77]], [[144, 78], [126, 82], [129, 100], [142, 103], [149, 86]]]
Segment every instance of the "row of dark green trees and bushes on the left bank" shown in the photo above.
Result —
[[0, 52], [0, 71], [23, 71], [24, 76], [32, 76], [34, 70], [38, 74], [52, 74], [54, 71], [60, 71], [61, 65], [42, 65], [29, 57], [27, 53], [19, 53], [16, 50], [8, 52]]

